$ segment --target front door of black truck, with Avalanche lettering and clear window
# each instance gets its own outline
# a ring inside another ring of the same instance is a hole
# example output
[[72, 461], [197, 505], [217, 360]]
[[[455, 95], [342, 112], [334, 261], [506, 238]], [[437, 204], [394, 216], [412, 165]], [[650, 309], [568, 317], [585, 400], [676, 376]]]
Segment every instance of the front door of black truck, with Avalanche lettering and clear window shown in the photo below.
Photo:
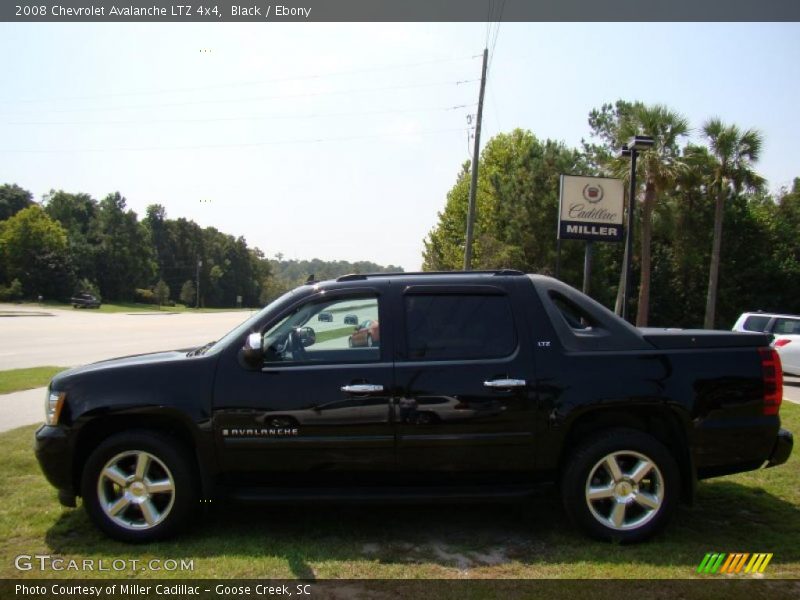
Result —
[[[221, 368], [213, 426], [223, 472], [239, 483], [321, 485], [393, 469], [384, 311], [377, 290], [312, 296], [265, 325], [260, 368]], [[358, 328], [344, 321], [353, 314], [373, 322], [369, 342], [353, 339]]]

